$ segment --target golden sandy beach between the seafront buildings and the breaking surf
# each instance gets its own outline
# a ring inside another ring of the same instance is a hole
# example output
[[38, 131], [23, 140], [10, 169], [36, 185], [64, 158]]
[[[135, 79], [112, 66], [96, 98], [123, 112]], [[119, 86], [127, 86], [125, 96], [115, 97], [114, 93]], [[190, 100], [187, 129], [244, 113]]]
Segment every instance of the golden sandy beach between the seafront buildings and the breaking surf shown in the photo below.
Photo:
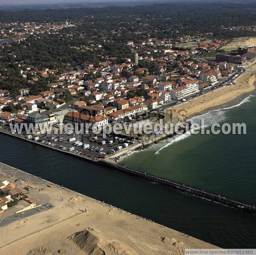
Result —
[[235, 85], [225, 86], [215, 89], [205, 95], [201, 95], [178, 106], [170, 108], [168, 111], [181, 121], [196, 115], [206, 113], [211, 109], [216, 109], [227, 104], [237, 97], [249, 93], [255, 89], [256, 77], [250, 73], [243, 73], [235, 81]]

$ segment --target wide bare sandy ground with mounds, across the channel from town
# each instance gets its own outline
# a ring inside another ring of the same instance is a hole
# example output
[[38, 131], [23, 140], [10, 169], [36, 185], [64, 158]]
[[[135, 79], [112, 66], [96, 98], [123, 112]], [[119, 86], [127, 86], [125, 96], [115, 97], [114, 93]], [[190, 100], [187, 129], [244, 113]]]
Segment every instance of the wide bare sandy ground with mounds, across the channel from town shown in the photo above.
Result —
[[[28, 184], [16, 183], [25, 192]], [[184, 254], [186, 248], [217, 248], [61, 187], [45, 186], [39, 192], [41, 185], [30, 186], [30, 198], [54, 207], [0, 226], [0, 254], [169, 255]]]

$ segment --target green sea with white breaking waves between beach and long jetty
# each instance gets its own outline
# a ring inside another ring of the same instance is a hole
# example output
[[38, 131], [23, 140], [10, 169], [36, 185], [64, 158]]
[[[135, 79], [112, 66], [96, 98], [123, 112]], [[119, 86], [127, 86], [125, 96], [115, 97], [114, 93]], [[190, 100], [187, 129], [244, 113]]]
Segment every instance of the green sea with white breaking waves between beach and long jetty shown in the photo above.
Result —
[[212, 123], [245, 123], [246, 135], [184, 135], [164, 140], [120, 163], [239, 201], [256, 204], [256, 96], [193, 117]]

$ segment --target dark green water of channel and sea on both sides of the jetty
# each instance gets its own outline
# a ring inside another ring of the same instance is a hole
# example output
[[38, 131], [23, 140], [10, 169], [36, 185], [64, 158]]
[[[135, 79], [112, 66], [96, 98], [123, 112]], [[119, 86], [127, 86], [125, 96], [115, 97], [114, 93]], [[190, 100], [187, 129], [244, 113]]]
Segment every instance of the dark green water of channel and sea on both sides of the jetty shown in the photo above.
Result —
[[[209, 122], [246, 122], [247, 135], [190, 135], [157, 145], [122, 163], [175, 181], [256, 198], [256, 97], [207, 116]], [[215, 116], [214, 116], [215, 115]], [[236, 120], [236, 121], [235, 121]], [[256, 215], [180, 194], [116, 170], [0, 134], [0, 161], [223, 248], [256, 248]]]

